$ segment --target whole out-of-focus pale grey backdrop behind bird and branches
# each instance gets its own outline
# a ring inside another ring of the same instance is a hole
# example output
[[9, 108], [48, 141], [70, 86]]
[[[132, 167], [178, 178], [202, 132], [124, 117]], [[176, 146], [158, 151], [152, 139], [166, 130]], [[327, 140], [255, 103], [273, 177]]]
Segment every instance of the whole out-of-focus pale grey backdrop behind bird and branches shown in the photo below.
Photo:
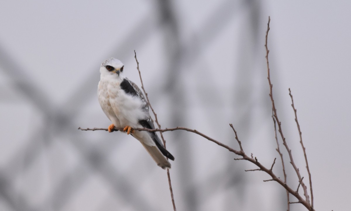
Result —
[[[312, 174], [316, 210], [346, 210], [350, 191], [350, 1], [9, 1], [0, 6], [0, 210], [172, 210], [166, 171], [107, 128], [101, 62], [125, 65], [163, 128], [197, 129], [283, 178], [265, 61], [294, 160], [308, 184], [288, 88]], [[165, 132], [178, 210], [286, 210], [286, 192], [231, 152]], [[279, 139], [280, 140], [280, 139]], [[281, 140], [280, 140], [281, 141]], [[280, 144], [283, 148], [283, 145]], [[298, 179], [284, 154], [288, 183]], [[300, 194], [303, 195], [300, 188]], [[292, 202], [296, 201], [290, 197]], [[291, 210], [305, 210], [292, 204]]]

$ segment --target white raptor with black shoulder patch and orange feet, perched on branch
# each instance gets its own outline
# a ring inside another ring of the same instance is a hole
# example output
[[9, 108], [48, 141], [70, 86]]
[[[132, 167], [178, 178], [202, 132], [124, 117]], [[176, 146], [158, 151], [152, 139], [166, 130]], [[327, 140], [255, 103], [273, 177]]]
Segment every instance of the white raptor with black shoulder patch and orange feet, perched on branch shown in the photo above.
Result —
[[102, 62], [98, 85], [99, 103], [111, 120], [108, 132], [124, 128], [127, 134], [138, 139], [161, 168], [171, 168], [174, 157], [168, 152], [155, 132], [137, 131], [133, 128], [155, 129], [149, 114], [149, 106], [139, 87], [123, 74], [124, 65], [115, 58]]

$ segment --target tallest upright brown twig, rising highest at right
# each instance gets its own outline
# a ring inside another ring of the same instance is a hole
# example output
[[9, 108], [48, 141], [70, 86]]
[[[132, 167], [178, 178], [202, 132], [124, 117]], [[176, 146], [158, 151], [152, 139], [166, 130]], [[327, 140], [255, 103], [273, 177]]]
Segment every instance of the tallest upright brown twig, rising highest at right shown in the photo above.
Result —
[[[301, 181], [301, 175], [300, 175], [300, 171], [299, 171], [299, 169], [297, 168], [297, 166], [296, 166], [296, 164], [295, 164], [295, 162], [294, 162], [294, 159], [293, 159], [293, 157], [292, 157], [292, 153], [291, 153], [291, 149], [289, 148], [289, 146], [288, 146], [288, 144], [287, 144], [287, 142], [286, 142], [286, 140], [285, 140], [285, 137], [284, 137], [284, 134], [283, 134], [283, 130], [282, 130], [282, 123], [279, 121], [279, 119], [278, 119], [278, 115], [277, 115], [277, 109], [276, 109], [276, 106], [274, 105], [274, 100], [273, 100], [273, 93], [272, 93], [272, 88], [273, 88], [273, 85], [272, 85], [272, 83], [271, 83], [271, 78], [270, 78], [270, 69], [269, 69], [269, 61], [268, 61], [268, 54], [269, 54], [269, 50], [268, 50], [268, 47], [267, 47], [267, 39], [268, 39], [268, 32], [269, 32], [269, 29], [270, 29], [270, 27], [269, 27], [269, 24], [270, 24], [270, 21], [271, 21], [271, 18], [269, 17], [268, 18], [268, 24], [267, 24], [267, 31], [266, 31], [266, 40], [265, 40], [265, 47], [266, 47], [266, 61], [267, 61], [267, 79], [268, 79], [268, 83], [269, 83], [269, 87], [270, 87], [270, 94], [269, 94], [269, 96], [270, 96], [270, 98], [271, 98], [271, 102], [272, 102], [272, 108], [273, 108], [273, 113], [274, 113], [274, 118], [276, 119], [276, 121], [277, 121], [277, 123], [278, 123], [278, 132], [280, 133], [280, 136], [282, 137], [282, 139], [283, 139], [283, 145], [285, 146], [285, 148], [286, 148], [286, 151], [288, 152], [288, 154], [289, 154], [289, 158], [290, 158], [290, 163], [291, 163], [291, 165], [293, 166], [293, 168], [294, 168], [294, 170], [295, 170], [295, 172], [296, 172], [296, 175], [297, 175], [297, 177], [298, 177], [298, 179], [299, 179], [299, 181]], [[308, 195], [308, 193], [307, 193], [307, 187], [306, 187], [306, 185], [302, 182], [301, 183], [301, 185], [302, 185], [302, 188], [303, 188], [303, 190], [304, 190], [304, 196], [305, 196], [305, 198], [306, 198], [306, 200], [305, 200], [305, 202], [306, 202], [306, 208], [307, 209], [313, 209], [312, 207], [311, 207], [311, 205], [310, 205], [310, 199], [309, 199], [309, 195]], [[300, 200], [299, 200], [300, 201]]]

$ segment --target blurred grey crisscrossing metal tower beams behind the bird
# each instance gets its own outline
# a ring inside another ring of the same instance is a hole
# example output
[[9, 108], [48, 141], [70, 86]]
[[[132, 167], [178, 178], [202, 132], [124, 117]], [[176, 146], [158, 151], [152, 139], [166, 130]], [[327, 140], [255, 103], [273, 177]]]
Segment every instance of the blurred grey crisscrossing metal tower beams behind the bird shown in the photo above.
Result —
[[[203, 87], [198, 82], [195, 82], [196, 87], [189, 86], [186, 81], [181, 80], [177, 76], [182, 73], [185, 74], [185, 70], [188, 71], [186, 74], [189, 74], [189, 72], [196, 69], [194, 65], [201, 60], [202, 53], [221, 35], [224, 29], [230, 27], [229, 25], [233, 20], [244, 14], [245, 23], [243, 26], [245, 27], [240, 28], [242, 37], [236, 41], [238, 45], [228, 46], [228, 48], [241, 52], [241, 57], [236, 59], [239, 61], [237, 66], [232, 67], [233, 72], [238, 69], [241, 71], [238, 71], [236, 77], [233, 78], [233, 95], [230, 97], [232, 109], [236, 111], [235, 116], [234, 113], [230, 115], [237, 123], [240, 122], [241, 131], [245, 131], [242, 132], [241, 136], [249, 136], [249, 133], [252, 132], [250, 131], [250, 115], [252, 115], [254, 107], [251, 101], [254, 81], [253, 77], [250, 76], [258, 74], [255, 72], [252, 61], [257, 60], [257, 52], [259, 52], [257, 49], [262, 44], [259, 42], [262, 39], [262, 35], [258, 33], [258, 20], [260, 19], [261, 10], [260, 1], [218, 1], [212, 13], [208, 15], [197, 31], [194, 30], [186, 39], [181, 36], [183, 29], [179, 24], [180, 13], [177, 12], [175, 4], [175, 2], [170, 0], [158, 0], [159, 14], [157, 14], [157, 22], [152, 22], [152, 19], [148, 17], [140, 20], [133, 27], [134, 29], [131, 30], [130, 34], [126, 36], [125, 40], [119, 42], [122, 44], [112, 49], [112, 54], [123, 55], [124, 49], [129, 48], [131, 45], [143, 45], [151, 38], [154, 30], [161, 30], [164, 36], [163, 48], [164, 52], [166, 52], [167, 63], [167, 67], [164, 70], [167, 73], [164, 79], [166, 87], [161, 89], [161, 91], [152, 90], [152, 93], [157, 93], [160, 99], [165, 98], [171, 102], [167, 103], [167, 110], [171, 113], [167, 125], [186, 125], [186, 114], [191, 113], [189, 102], [184, 97], [187, 95], [187, 89], [194, 89], [197, 93], [201, 93]], [[106, 57], [110, 56], [111, 52], [106, 53]], [[89, 72], [90, 76], [84, 83], [81, 83], [81, 87], [76, 89], [71, 96], [67, 96], [66, 102], [57, 105], [52, 103], [53, 99], [50, 96], [42, 92], [42, 87], [39, 87], [32, 81], [29, 70], [24, 68], [22, 64], [17, 63], [14, 59], [15, 57], [16, 55], [9, 54], [0, 46], [0, 68], [2, 74], [8, 78], [8, 84], [11, 84], [11, 91], [16, 93], [16, 95], [25, 96], [25, 98], [12, 101], [11, 96], [7, 96], [2, 92], [4, 96], [1, 103], [4, 104], [10, 101], [10, 103], [31, 104], [33, 115], [39, 113], [41, 122], [29, 125], [30, 130], [33, 131], [32, 135], [19, 146], [16, 155], [12, 156], [7, 164], [0, 169], [0, 201], [4, 203], [3, 207], [9, 210], [65, 210], [65, 206], [71, 200], [71, 197], [75, 193], [83, 191], [91, 175], [97, 174], [104, 184], [113, 190], [116, 196], [129, 205], [130, 210], [162, 210], [157, 203], [146, 200], [138, 190], [138, 187], [130, 181], [126, 174], [119, 172], [108, 160], [108, 157], [114, 153], [113, 149], [120, 145], [120, 142], [108, 141], [104, 145], [93, 144], [87, 141], [87, 137], [83, 136], [81, 131], [77, 131], [75, 118], [82, 115], [82, 111], [79, 108], [84, 107], [84, 104], [92, 98], [96, 98], [91, 93], [96, 93], [97, 70], [92, 68]], [[127, 58], [126, 56], [120, 59], [129, 60], [132, 58]], [[174, 71], [175, 67], [177, 71]], [[210, 71], [204, 70], [204, 73], [211, 77]], [[1, 89], [5, 88], [8, 89], [7, 87], [2, 87]], [[222, 96], [217, 97], [217, 100], [222, 98]], [[201, 102], [204, 103], [203, 116], [208, 115], [205, 111], [224, 109], [218, 108], [218, 104], [214, 102], [215, 100], [212, 101], [212, 104]], [[238, 118], [237, 114], [241, 114], [241, 116]], [[208, 124], [211, 124], [211, 114], [206, 121]], [[16, 131], [21, 131], [20, 125], [16, 128]], [[176, 204], [184, 210], [203, 210], [204, 207], [201, 204], [205, 200], [214, 197], [220, 190], [225, 190], [227, 200], [225, 200], [224, 205], [220, 206], [221, 209], [230, 210], [232, 207], [240, 206], [237, 203], [243, 201], [243, 198], [236, 200], [234, 198], [237, 196], [243, 197], [240, 193], [245, 192], [245, 179], [243, 176], [244, 172], [235, 170], [235, 166], [242, 166], [242, 164], [233, 162], [232, 156], [227, 156], [226, 161], [224, 161], [226, 170], [213, 173], [204, 182], [207, 186], [216, 187], [214, 191], [202, 193], [201, 188], [196, 185], [199, 183], [195, 172], [197, 169], [196, 163], [189, 163], [193, 159], [193, 151], [199, 149], [194, 148], [189, 141], [191, 137], [188, 134], [174, 132], [171, 136], [172, 139], [178, 140], [174, 144], [177, 148], [172, 150], [181, 155], [176, 157], [176, 162], [179, 163], [181, 168], [177, 172], [171, 171], [173, 183], [177, 184], [173, 189], [178, 189]], [[231, 134], [225, 134], [224, 136], [230, 137]], [[32, 168], [48, 168], [47, 166], [51, 165], [50, 161], [43, 161], [42, 154], [49, 154], [50, 148], [56, 145], [57, 139], [65, 140], [64, 147], [77, 153], [79, 162], [69, 169], [49, 169], [48, 171], [52, 171], [53, 174], [62, 175], [62, 178], [55, 184], [53, 189], [47, 191], [45, 196], [37, 199], [31, 196], [32, 194], [28, 193], [28, 190], [21, 190], [18, 187], [29, 185], [34, 186], [31, 190], [35, 190], [35, 184], [31, 184], [31, 181], [36, 175], [28, 174], [28, 172]], [[44, 165], [42, 162], [44, 162]], [[149, 171], [151, 176], [152, 172], [151, 170]], [[24, 181], [19, 182], [21, 180]], [[176, 181], [180, 181], [180, 183]], [[111, 207], [102, 204], [98, 210], [106, 209], [111, 209]]]

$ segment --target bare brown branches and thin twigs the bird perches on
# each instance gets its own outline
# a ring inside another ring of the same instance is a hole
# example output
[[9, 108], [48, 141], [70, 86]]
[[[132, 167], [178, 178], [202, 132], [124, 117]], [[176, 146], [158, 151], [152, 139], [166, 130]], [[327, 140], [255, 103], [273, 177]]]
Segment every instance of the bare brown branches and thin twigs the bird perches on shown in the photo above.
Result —
[[[158, 125], [158, 129], [147, 129], [147, 128], [134, 128], [134, 130], [139, 130], [139, 131], [154, 131], [154, 132], [160, 132], [161, 134], [161, 138], [164, 142], [164, 145], [166, 146], [166, 142], [163, 138], [163, 135], [162, 135], [162, 132], [166, 132], [166, 131], [174, 131], [174, 130], [185, 130], [185, 131], [188, 131], [188, 132], [193, 132], [197, 135], [200, 135], [204, 138], [206, 138], [207, 140], [209, 141], [212, 141], [216, 144], [218, 144], [219, 146], [221, 147], [224, 147], [226, 148], [227, 150], [229, 150], [230, 152], [233, 152], [234, 154], [238, 155], [238, 156], [241, 156], [241, 158], [235, 158], [235, 160], [246, 160], [246, 161], [249, 161], [251, 163], [253, 163], [254, 165], [256, 165], [258, 168], [257, 169], [251, 169], [251, 170], [245, 170], [245, 171], [264, 171], [266, 172], [268, 175], [270, 175], [271, 179], [267, 179], [267, 180], [264, 180], [264, 182], [267, 182], [267, 181], [276, 181], [278, 182], [280, 185], [283, 186], [283, 188], [286, 190], [286, 194], [287, 194], [287, 210], [289, 211], [290, 210], [290, 204], [293, 204], [293, 203], [300, 203], [302, 204], [303, 206], [305, 206], [307, 208], [307, 210], [310, 210], [310, 211], [314, 211], [314, 208], [313, 208], [313, 191], [312, 191], [312, 181], [311, 181], [311, 173], [310, 173], [310, 169], [309, 169], [309, 165], [308, 165], [308, 162], [307, 162], [307, 156], [306, 156], [306, 151], [305, 151], [305, 147], [303, 145], [303, 141], [302, 141], [302, 133], [300, 131], [300, 125], [298, 123], [298, 120], [297, 120], [297, 113], [296, 113], [296, 109], [294, 107], [294, 101], [293, 101], [293, 97], [292, 97], [292, 94], [291, 94], [291, 90], [289, 89], [289, 95], [291, 97], [291, 106], [293, 108], [293, 111], [294, 111], [294, 114], [295, 114], [295, 122], [297, 124], [297, 128], [298, 128], [298, 132], [299, 132], [299, 136], [300, 136], [300, 144], [302, 146], [302, 149], [303, 149], [303, 152], [304, 152], [304, 157], [305, 157], [305, 162], [306, 162], [306, 169], [307, 169], [307, 173], [308, 173], [308, 177], [309, 177], [309, 185], [310, 185], [310, 190], [307, 189], [307, 186], [305, 185], [303, 179], [304, 177], [302, 177], [300, 175], [300, 172], [299, 172], [299, 169], [297, 168], [295, 162], [294, 162], [294, 159], [293, 159], [293, 156], [292, 156], [292, 152], [291, 152], [291, 149], [289, 148], [289, 145], [287, 144], [286, 142], [286, 139], [285, 139], [285, 136], [283, 134], [283, 131], [282, 131], [282, 127], [281, 127], [281, 122], [279, 121], [279, 118], [278, 118], [278, 114], [277, 114], [277, 110], [276, 110], [276, 106], [274, 104], [274, 99], [273, 99], [273, 94], [272, 94], [272, 89], [273, 89], [273, 85], [271, 83], [271, 80], [270, 80], [270, 69], [269, 69], [269, 61], [268, 61], [268, 54], [269, 54], [269, 50], [268, 50], [268, 47], [267, 47], [267, 39], [268, 39], [268, 32], [270, 30], [270, 17], [268, 19], [268, 24], [267, 24], [267, 31], [266, 31], [266, 37], [265, 37], [265, 48], [266, 48], [266, 61], [267, 61], [267, 79], [268, 79], [268, 82], [269, 82], [269, 86], [270, 86], [270, 98], [271, 98], [271, 102], [272, 102], [272, 119], [273, 119], [273, 123], [274, 123], [274, 132], [275, 132], [275, 138], [276, 138], [276, 143], [277, 143], [277, 152], [280, 156], [280, 160], [282, 162], [282, 166], [283, 166], [283, 175], [284, 175], [284, 181], [282, 179], [280, 179], [279, 177], [276, 176], [276, 174], [273, 172], [273, 166], [274, 164], [276, 163], [276, 158], [274, 158], [274, 161], [272, 163], [272, 165], [270, 166], [270, 168], [267, 168], [265, 167], [263, 164], [261, 164], [260, 162], [258, 162], [258, 159], [256, 157], [253, 157], [252, 154], [250, 156], [248, 156], [242, 145], [241, 145], [241, 142], [238, 138], [238, 135], [237, 135], [237, 131], [234, 129], [233, 125], [230, 124], [230, 127], [232, 128], [234, 134], [235, 134], [235, 139], [236, 141], [238, 142], [239, 144], [239, 148], [240, 150], [235, 150], [211, 137], [208, 137], [207, 135], [197, 131], [197, 130], [194, 130], [194, 129], [189, 129], [189, 128], [184, 128], [184, 127], [176, 127], [176, 128], [166, 128], [166, 129], [161, 129], [161, 126], [160, 124], [158, 123], [158, 120], [157, 120], [157, 115], [156, 113], [154, 112], [151, 104], [150, 104], [150, 101], [148, 100], [148, 96], [147, 96], [147, 93], [145, 92], [145, 89], [144, 89], [144, 85], [143, 85], [143, 81], [141, 79], [141, 74], [140, 74], [140, 70], [139, 70], [139, 62], [137, 60], [137, 57], [136, 57], [136, 54], [135, 54], [135, 60], [137, 62], [137, 69], [138, 69], [138, 72], [139, 72], [139, 76], [140, 76], [140, 81], [141, 81], [141, 88], [143, 89], [144, 93], [145, 93], [145, 96], [146, 96], [146, 100], [155, 116], [155, 122], [157, 123]], [[135, 53], [135, 51], [134, 51]], [[278, 125], [278, 132], [277, 132], [277, 125]], [[80, 130], [106, 130], [105, 128], [92, 128], [92, 129], [82, 129], [82, 128], [78, 128]], [[123, 130], [123, 128], [115, 128], [115, 130]], [[285, 163], [284, 163], [284, 159], [283, 159], [283, 154], [282, 154], [282, 150], [280, 149], [279, 147], [279, 142], [278, 142], [278, 134], [280, 135], [281, 139], [282, 139], [282, 142], [283, 142], [283, 145], [289, 155], [289, 162], [290, 164], [292, 165], [293, 169], [295, 170], [296, 172], [296, 176], [298, 178], [298, 186], [293, 189], [291, 186], [289, 186], [287, 183], [286, 183], [286, 172], [285, 172]], [[169, 186], [170, 186], [170, 192], [171, 192], [171, 200], [172, 200], [172, 204], [173, 204], [173, 209], [174, 211], [176, 210], [176, 205], [174, 203], [174, 198], [173, 198], [173, 191], [172, 191], [172, 185], [171, 185], [171, 179], [170, 179], [170, 172], [169, 172], [169, 169], [167, 169], [167, 176], [168, 176], [168, 183], [169, 183]], [[303, 189], [303, 196], [301, 196], [299, 194], [299, 188], [300, 186], [302, 187]], [[311, 198], [310, 198], [310, 195], [311, 195]], [[291, 202], [290, 201], [290, 195], [294, 196], [297, 201], [295, 202]]]

